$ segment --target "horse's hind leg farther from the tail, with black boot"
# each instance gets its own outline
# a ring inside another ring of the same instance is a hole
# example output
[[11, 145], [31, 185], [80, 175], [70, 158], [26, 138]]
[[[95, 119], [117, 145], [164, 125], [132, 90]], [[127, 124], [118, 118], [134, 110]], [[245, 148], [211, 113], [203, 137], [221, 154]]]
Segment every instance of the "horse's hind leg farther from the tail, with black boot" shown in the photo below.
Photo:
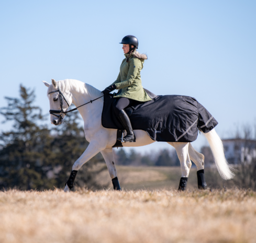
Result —
[[192, 166], [192, 163], [190, 161], [190, 155], [188, 154], [188, 144], [189, 143], [171, 143], [177, 153], [177, 156], [179, 157], [180, 163], [181, 163], [181, 180], [178, 190], [184, 191], [187, 186], [187, 178], [190, 173], [190, 168]]

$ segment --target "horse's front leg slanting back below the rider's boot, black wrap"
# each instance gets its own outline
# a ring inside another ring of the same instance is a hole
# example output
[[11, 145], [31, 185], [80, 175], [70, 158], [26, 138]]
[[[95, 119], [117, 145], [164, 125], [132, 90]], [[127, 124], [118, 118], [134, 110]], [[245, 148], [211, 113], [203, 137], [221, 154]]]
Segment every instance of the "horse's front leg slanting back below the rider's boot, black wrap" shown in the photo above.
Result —
[[114, 190], [120, 191], [120, 185], [119, 181], [117, 179], [117, 172], [116, 172], [116, 166], [115, 166], [115, 159], [113, 155], [113, 148], [106, 148], [103, 151], [101, 151], [103, 158], [106, 161], [108, 172], [110, 175], [110, 178], [112, 179]]

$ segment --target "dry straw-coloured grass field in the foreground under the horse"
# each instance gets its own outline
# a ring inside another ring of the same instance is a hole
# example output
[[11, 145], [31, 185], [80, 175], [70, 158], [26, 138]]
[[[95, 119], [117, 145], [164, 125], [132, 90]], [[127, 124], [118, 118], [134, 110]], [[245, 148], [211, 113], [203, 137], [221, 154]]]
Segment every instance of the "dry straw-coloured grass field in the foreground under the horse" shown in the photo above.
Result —
[[0, 192], [0, 242], [256, 242], [241, 190]]

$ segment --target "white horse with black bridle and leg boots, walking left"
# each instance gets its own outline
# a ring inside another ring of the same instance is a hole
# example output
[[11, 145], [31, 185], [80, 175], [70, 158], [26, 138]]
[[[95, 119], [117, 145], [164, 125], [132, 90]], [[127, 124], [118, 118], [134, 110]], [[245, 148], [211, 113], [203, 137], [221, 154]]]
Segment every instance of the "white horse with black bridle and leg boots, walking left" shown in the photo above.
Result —
[[[65, 79], [56, 82], [52, 79], [52, 84], [44, 82], [48, 87], [47, 94], [50, 101], [50, 119], [54, 125], [59, 125], [65, 117], [65, 111], [68, 110], [69, 105], [73, 103], [76, 107], [87, 103], [87, 105], [78, 108], [84, 120], [85, 138], [90, 143], [84, 153], [77, 159], [72, 167], [71, 176], [65, 184], [64, 191], [68, 192], [73, 187], [76, 172], [90, 160], [97, 153], [101, 152], [108, 168], [110, 178], [112, 178], [114, 189], [120, 190], [119, 182], [117, 179], [117, 171], [115, 160], [113, 156], [112, 146], [116, 143], [117, 130], [106, 129], [102, 126], [101, 117], [103, 110], [104, 98], [103, 93], [91, 85], [82, 83], [74, 79]], [[101, 97], [99, 99], [96, 99]], [[94, 100], [92, 103], [91, 100]], [[124, 147], [138, 147], [154, 143], [147, 132], [142, 130], [135, 130], [136, 142], [123, 143]], [[220, 176], [225, 179], [233, 178], [233, 173], [225, 159], [222, 141], [217, 135], [216, 131], [204, 134], [212, 149], [216, 166]], [[180, 190], [185, 190], [188, 174], [190, 173], [191, 160], [197, 167], [198, 188], [206, 189], [206, 182], [204, 178], [204, 155], [195, 151], [191, 143], [181, 142], [168, 142], [172, 145], [179, 157], [181, 163], [181, 180]]]

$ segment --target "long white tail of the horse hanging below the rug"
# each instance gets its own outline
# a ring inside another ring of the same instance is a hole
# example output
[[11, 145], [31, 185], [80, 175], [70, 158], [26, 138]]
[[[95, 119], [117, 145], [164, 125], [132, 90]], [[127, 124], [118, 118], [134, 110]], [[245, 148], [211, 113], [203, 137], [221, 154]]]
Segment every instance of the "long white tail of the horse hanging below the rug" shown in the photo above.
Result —
[[224, 155], [222, 141], [216, 133], [215, 129], [208, 133], [204, 133], [204, 135], [206, 136], [207, 141], [210, 145], [210, 149], [213, 152], [215, 164], [218, 168], [220, 176], [225, 180], [232, 179], [235, 174], [230, 170], [230, 166], [228, 165]]

